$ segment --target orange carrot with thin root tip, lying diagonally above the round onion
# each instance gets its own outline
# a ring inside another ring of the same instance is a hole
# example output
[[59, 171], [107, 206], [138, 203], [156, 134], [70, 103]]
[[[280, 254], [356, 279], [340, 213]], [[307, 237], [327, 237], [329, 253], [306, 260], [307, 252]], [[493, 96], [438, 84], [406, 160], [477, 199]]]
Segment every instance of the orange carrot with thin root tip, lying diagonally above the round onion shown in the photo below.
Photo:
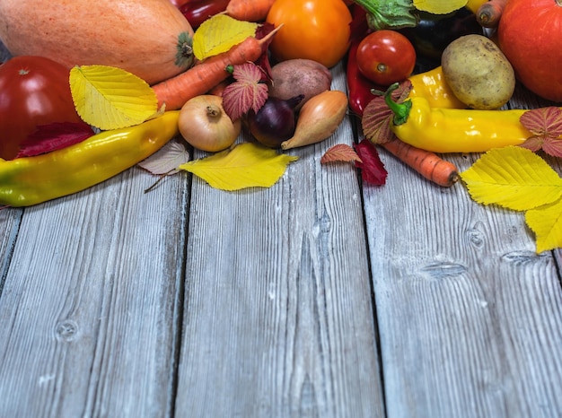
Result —
[[205, 94], [216, 84], [226, 80], [230, 76], [226, 70], [228, 65], [241, 65], [256, 61], [263, 53], [263, 45], [276, 33], [277, 29], [272, 30], [262, 39], [248, 37], [228, 51], [208, 57], [185, 72], [162, 83], [154, 84], [152, 87], [158, 98], [158, 109], [164, 103], [166, 110], [181, 109], [189, 99]]

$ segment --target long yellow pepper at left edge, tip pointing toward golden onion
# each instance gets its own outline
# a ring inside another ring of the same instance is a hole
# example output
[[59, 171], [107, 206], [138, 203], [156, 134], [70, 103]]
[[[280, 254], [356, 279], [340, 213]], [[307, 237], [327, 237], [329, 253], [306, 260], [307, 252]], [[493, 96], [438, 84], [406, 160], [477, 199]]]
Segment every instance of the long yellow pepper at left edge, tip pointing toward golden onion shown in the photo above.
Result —
[[0, 159], [0, 205], [30, 206], [110, 179], [178, 135], [179, 111], [33, 157]]

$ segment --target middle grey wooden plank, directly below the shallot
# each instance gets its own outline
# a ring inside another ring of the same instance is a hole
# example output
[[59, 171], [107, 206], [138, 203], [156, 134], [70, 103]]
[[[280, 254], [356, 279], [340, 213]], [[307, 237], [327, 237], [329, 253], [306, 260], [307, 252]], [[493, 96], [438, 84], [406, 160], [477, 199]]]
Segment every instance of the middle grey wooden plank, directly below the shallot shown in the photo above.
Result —
[[177, 417], [383, 416], [356, 171], [320, 164], [352, 141], [346, 120], [269, 189], [194, 179]]

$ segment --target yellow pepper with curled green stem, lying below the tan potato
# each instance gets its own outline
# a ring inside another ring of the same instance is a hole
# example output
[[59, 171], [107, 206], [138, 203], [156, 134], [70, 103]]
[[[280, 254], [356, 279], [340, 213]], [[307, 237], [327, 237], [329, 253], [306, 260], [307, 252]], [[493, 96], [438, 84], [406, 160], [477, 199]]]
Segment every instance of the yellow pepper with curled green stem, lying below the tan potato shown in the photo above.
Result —
[[473, 110], [432, 108], [423, 97], [403, 103], [385, 100], [394, 112], [391, 130], [403, 142], [432, 152], [486, 152], [522, 144], [532, 134], [519, 118], [527, 110]]

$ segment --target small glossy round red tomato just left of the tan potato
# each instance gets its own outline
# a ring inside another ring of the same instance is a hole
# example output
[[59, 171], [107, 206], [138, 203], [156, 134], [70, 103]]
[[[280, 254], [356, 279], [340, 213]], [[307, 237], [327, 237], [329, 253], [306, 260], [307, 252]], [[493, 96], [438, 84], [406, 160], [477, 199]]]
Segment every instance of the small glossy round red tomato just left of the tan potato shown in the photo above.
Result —
[[416, 50], [408, 38], [396, 30], [376, 30], [359, 43], [356, 62], [366, 78], [389, 86], [412, 74]]

